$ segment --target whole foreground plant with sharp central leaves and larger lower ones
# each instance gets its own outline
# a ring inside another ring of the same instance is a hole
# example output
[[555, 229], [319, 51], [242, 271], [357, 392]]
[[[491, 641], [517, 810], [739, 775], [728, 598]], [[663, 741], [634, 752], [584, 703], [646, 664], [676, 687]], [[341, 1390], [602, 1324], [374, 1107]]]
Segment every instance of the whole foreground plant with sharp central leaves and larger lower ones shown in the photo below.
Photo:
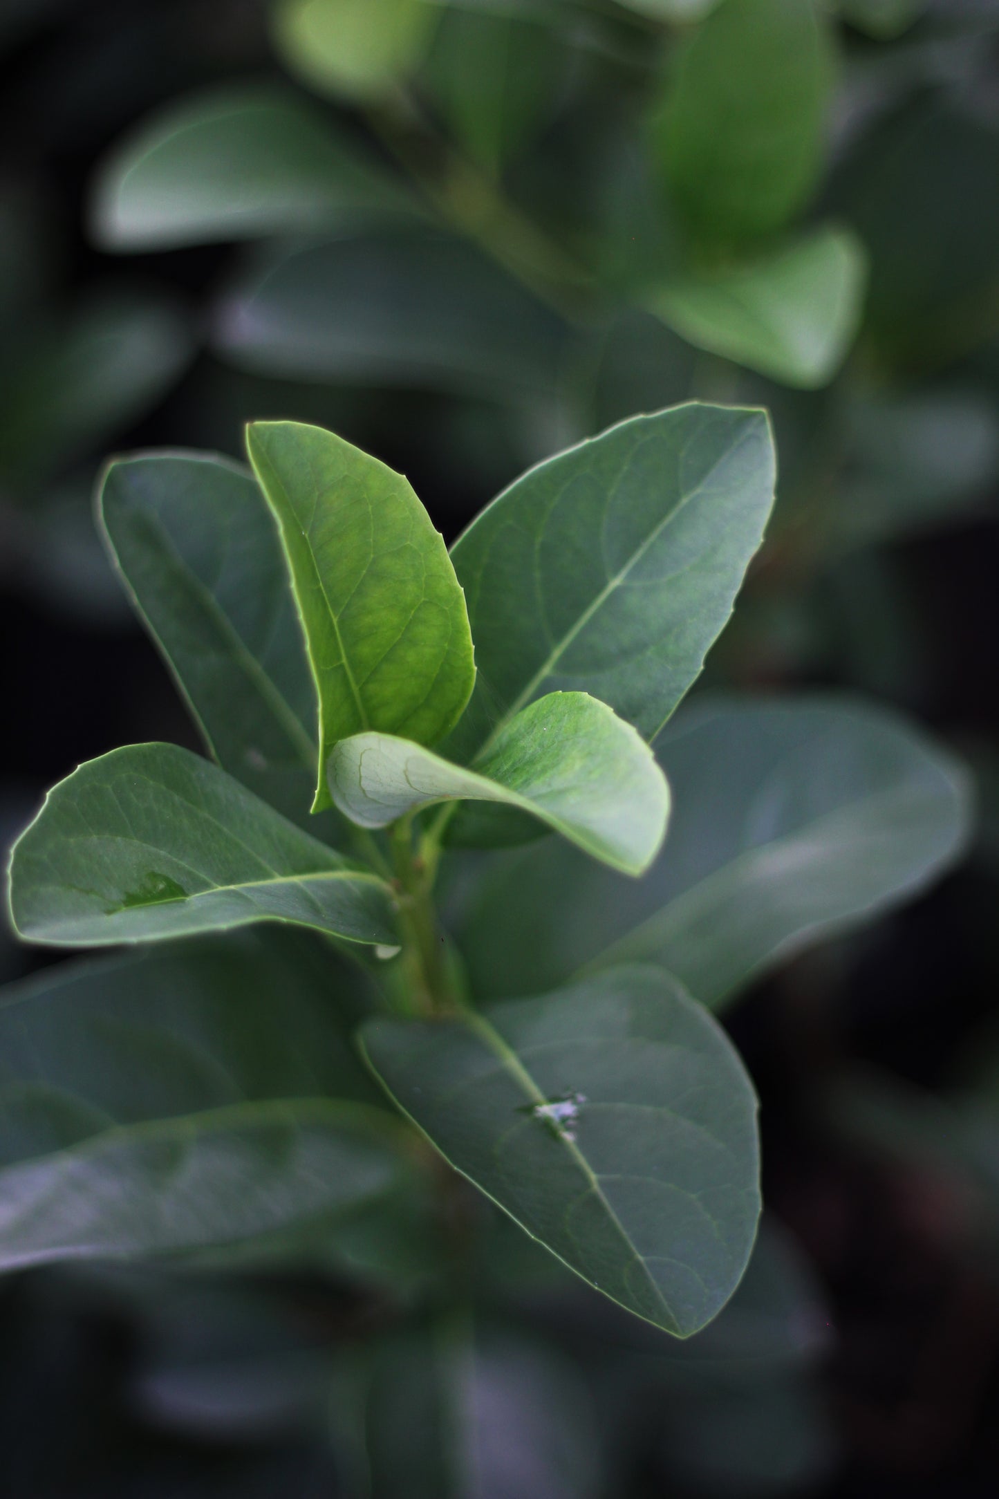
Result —
[[457, 1172], [696, 1331], [759, 1211], [753, 1088], [707, 1006], [942, 868], [960, 769], [836, 700], [669, 724], [770, 513], [761, 411], [613, 427], [451, 555], [333, 433], [253, 423], [247, 451], [100, 483], [214, 763], [115, 750], [13, 848], [24, 937], [183, 941], [0, 1012], [0, 1264], [322, 1255], [406, 1282], [428, 1243], [416, 1279], [464, 1304]]

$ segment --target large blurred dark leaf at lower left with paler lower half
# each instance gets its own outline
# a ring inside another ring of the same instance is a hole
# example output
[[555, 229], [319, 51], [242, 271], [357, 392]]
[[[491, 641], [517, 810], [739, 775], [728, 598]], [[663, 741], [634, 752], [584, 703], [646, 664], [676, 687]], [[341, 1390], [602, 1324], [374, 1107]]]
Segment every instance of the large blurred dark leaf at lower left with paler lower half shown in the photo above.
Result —
[[304, 932], [48, 970], [0, 1006], [0, 1265], [309, 1231], [400, 1177]]

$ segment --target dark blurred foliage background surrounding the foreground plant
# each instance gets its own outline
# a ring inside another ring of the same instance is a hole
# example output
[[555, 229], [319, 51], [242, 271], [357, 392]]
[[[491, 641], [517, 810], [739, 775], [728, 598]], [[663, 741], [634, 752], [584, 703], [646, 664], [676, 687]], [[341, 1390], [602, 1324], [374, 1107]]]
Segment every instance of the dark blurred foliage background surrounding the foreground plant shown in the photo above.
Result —
[[374, 1222], [334, 1274], [31, 1271], [7, 1490], [993, 1492], [996, 0], [4, 0], [0, 48], [4, 839], [76, 761], [190, 742], [93, 532], [109, 448], [319, 421], [454, 537], [687, 399], [768, 406], [782, 469], [708, 685], [875, 693], [981, 814], [942, 887], [728, 1018], [770, 1222], [692, 1343], [500, 1222], [442, 1325], [406, 1202], [406, 1264]]

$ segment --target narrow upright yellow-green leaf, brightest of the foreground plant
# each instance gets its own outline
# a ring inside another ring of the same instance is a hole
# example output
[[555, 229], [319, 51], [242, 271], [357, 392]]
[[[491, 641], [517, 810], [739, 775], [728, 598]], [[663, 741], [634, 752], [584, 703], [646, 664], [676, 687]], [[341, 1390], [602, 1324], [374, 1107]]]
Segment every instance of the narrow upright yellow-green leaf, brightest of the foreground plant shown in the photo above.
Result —
[[321, 779], [330, 751], [377, 730], [434, 744], [475, 682], [464, 597], [409, 483], [343, 438], [255, 421], [247, 451], [274, 514], [319, 697]]

